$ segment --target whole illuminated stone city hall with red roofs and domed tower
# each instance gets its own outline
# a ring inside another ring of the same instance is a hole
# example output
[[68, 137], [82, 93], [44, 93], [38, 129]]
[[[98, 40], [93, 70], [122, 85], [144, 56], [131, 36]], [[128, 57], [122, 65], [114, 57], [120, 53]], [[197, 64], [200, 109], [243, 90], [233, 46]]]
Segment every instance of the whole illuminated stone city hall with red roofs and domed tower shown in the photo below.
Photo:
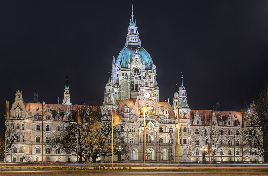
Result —
[[[117, 58], [112, 59], [111, 77], [109, 72], [101, 105], [101, 109], [113, 106], [123, 111], [124, 121], [120, 124], [120, 130], [126, 136], [125, 142], [130, 145], [130, 150], [121, 160], [143, 161], [145, 144], [148, 161], [202, 161], [202, 146], [207, 150], [211, 147], [214, 161], [241, 161], [242, 113], [220, 111], [219, 102], [215, 111], [191, 110], [187, 103], [183, 75], [181, 86], [174, 86], [172, 104], [169, 101], [160, 102], [156, 65], [150, 54], [141, 46], [133, 12], [131, 16], [125, 46]], [[10, 119], [13, 120], [14, 128], [21, 131], [21, 135], [7, 160], [76, 161], [76, 156], [66, 155], [60, 149], [56, 152], [50, 151], [45, 147], [46, 143], [50, 142], [51, 135], [62, 130], [68, 116], [72, 111], [76, 111], [77, 105], [70, 102], [69, 91], [67, 84], [62, 104], [43, 104], [43, 109], [42, 104], [38, 103], [37, 93], [34, 95], [34, 102], [24, 103], [22, 91], [16, 91], [15, 101], [10, 109]], [[205, 139], [210, 136], [208, 133], [212, 136], [209, 140]], [[98, 159], [107, 161], [110, 158]], [[114, 160], [116, 159], [118, 158], [114, 157]], [[244, 153], [244, 161], [263, 159]]]

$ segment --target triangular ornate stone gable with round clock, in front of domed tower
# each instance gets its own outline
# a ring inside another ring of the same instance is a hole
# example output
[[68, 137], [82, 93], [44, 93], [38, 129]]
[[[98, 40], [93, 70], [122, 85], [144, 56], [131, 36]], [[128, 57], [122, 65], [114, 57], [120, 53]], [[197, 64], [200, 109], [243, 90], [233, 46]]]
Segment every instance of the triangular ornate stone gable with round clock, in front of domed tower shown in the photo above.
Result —
[[157, 95], [154, 91], [154, 83], [148, 75], [148, 71], [145, 72], [143, 80], [140, 83], [139, 93], [137, 95], [135, 105], [130, 113], [142, 115], [142, 110], [144, 108], [148, 110], [146, 115], [148, 113], [150, 115], [164, 115], [158, 105]]

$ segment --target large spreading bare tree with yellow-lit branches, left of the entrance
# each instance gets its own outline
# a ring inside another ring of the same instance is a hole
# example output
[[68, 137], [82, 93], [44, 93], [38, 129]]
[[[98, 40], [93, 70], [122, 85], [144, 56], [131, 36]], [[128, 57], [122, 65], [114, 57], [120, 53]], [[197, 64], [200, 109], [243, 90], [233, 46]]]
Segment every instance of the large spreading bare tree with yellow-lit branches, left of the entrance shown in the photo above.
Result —
[[[109, 108], [109, 107], [106, 107]], [[64, 123], [61, 131], [56, 131], [51, 138], [48, 147], [53, 150], [60, 149], [68, 155], [77, 155], [77, 136], [78, 136], [78, 155], [81, 161], [89, 161], [92, 158], [111, 155], [111, 111], [102, 109], [99, 106], [83, 106], [79, 109], [81, 123], [77, 123], [76, 112], [72, 112], [70, 119]], [[120, 139], [120, 127], [113, 127], [114, 136]], [[77, 133], [78, 132], [78, 133]], [[114, 138], [114, 154], [118, 152], [120, 143]], [[119, 141], [121, 142], [121, 141]]]

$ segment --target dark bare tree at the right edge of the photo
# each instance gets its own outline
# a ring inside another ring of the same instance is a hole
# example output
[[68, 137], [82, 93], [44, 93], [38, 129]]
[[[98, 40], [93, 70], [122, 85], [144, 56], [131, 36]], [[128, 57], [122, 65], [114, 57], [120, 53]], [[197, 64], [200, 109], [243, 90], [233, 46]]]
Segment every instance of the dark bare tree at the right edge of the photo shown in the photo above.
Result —
[[247, 128], [243, 130], [243, 146], [250, 155], [263, 157], [268, 161], [268, 84], [263, 89], [245, 119]]

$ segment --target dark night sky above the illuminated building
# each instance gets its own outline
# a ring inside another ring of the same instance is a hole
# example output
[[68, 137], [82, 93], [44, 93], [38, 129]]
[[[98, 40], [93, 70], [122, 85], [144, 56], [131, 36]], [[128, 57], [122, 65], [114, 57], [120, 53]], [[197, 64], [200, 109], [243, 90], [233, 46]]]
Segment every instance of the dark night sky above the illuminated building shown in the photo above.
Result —
[[247, 108], [268, 80], [267, 1], [0, 1], [0, 100], [102, 104], [133, 5], [157, 67], [160, 101], [184, 86], [192, 109]]

